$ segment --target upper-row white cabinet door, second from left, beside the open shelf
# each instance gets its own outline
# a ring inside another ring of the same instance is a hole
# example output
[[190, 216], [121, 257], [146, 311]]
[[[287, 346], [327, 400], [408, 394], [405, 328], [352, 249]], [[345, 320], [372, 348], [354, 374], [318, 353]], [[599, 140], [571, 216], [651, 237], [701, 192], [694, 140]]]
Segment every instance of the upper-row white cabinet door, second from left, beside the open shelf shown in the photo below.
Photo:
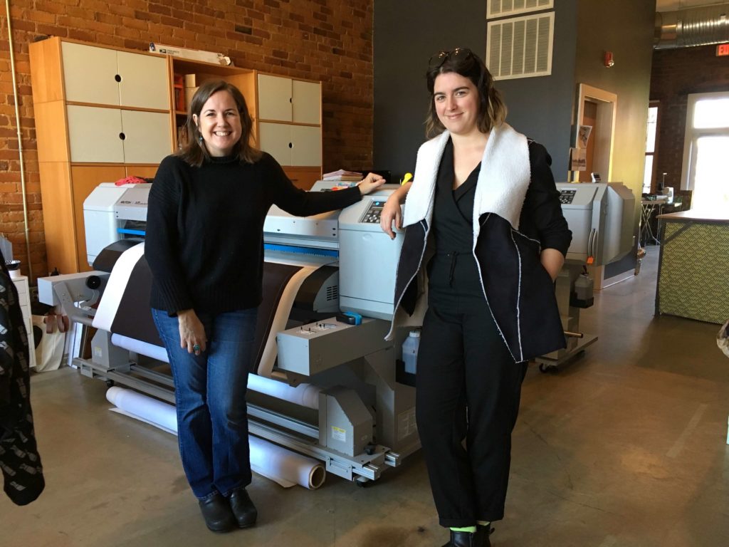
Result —
[[170, 109], [170, 86], [165, 58], [120, 51], [117, 52], [117, 66], [121, 78], [121, 106]]

